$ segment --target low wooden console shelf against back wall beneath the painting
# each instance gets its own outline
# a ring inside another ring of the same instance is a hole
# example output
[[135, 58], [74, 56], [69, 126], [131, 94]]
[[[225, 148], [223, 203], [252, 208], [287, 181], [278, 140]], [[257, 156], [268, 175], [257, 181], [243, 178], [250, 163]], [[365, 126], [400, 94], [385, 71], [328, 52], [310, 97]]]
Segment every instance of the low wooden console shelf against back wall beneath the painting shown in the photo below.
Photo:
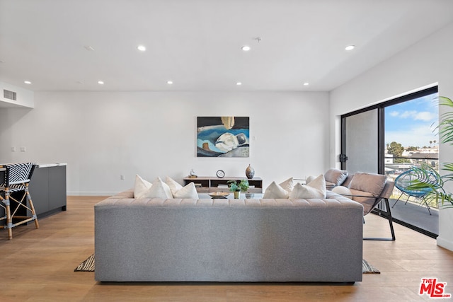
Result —
[[[195, 184], [197, 192], [209, 193], [209, 192], [229, 192], [228, 183], [229, 180], [236, 180], [237, 182], [246, 178], [216, 178], [209, 176], [200, 176], [197, 178], [184, 178], [184, 185], [188, 185], [190, 182]], [[253, 178], [248, 180], [250, 188], [247, 193], [263, 193], [263, 180], [261, 178]]]

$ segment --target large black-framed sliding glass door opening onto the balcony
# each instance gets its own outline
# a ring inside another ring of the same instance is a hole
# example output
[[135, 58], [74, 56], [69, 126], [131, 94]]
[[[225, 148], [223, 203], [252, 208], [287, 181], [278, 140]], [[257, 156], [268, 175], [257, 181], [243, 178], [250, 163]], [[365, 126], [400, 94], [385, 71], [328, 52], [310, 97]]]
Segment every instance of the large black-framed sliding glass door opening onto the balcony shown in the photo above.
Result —
[[[439, 138], [435, 124], [439, 116], [436, 97], [437, 87], [433, 87], [343, 115], [342, 168], [350, 173], [385, 174], [391, 180], [411, 166], [422, 163], [438, 170]], [[395, 201], [400, 194], [395, 189], [391, 198]], [[434, 211], [429, 215], [428, 209], [420, 207], [420, 200], [413, 197], [409, 198], [408, 204], [405, 202], [406, 197], [392, 209], [399, 219], [396, 222], [436, 236], [438, 221], [430, 217], [438, 214]], [[408, 217], [401, 217], [400, 214]], [[428, 216], [427, 220], [418, 221], [420, 218], [423, 220], [423, 216]]]

